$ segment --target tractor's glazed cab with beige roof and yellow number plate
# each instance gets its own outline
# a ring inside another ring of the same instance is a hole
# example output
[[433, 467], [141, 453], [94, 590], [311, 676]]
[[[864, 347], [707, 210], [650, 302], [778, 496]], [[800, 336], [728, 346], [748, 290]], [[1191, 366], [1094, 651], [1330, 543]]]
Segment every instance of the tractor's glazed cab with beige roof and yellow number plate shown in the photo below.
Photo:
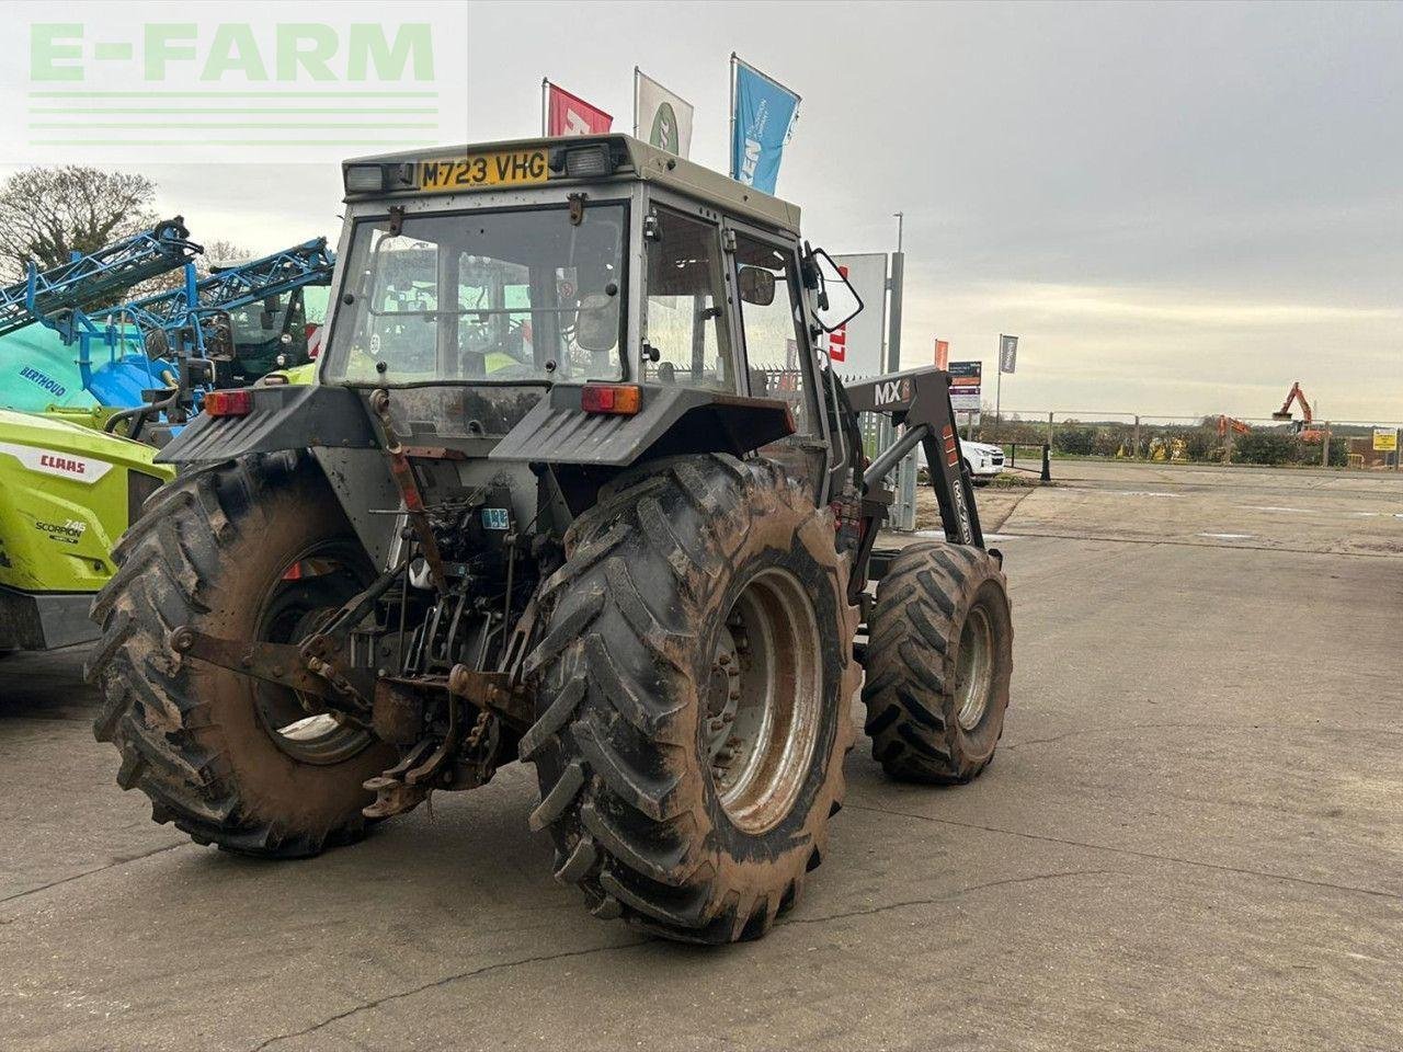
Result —
[[[815, 481], [832, 467], [815, 348], [861, 303], [796, 206], [617, 135], [361, 159], [344, 180], [321, 383], [389, 390], [446, 442], [505, 435], [547, 390], [694, 414], [697, 442], [739, 426], [710, 396], [763, 398], [766, 443], [808, 450]], [[481, 412], [455, 411], [463, 389]]]

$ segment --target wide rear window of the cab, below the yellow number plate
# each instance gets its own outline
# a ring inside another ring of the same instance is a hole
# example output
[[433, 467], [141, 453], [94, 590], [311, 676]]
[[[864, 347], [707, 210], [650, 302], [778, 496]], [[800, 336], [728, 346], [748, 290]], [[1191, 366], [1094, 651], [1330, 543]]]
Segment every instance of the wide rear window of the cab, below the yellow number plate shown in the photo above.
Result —
[[358, 222], [327, 379], [619, 379], [624, 222], [624, 205]]

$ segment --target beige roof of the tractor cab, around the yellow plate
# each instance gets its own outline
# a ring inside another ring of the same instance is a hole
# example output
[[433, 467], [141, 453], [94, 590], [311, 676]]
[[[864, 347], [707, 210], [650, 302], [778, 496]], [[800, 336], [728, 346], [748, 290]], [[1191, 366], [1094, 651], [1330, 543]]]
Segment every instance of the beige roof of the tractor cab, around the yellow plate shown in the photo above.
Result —
[[[689, 198], [716, 205], [727, 213], [759, 220], [766, 226], [798, 233], [798, 205], [791, 205], [780, 198], [763, 194], [753, 187], [723, 175], [718, 171], [700, 164], [676, 157], [675, 154], [650, 146], [641, 139], [630, 135], [581, 135], [570, 137], [535, 137], [535, 139], [506, 139], [488, 143], [467, 143], [463, 146], [428, 146], [419, 150], [403, 153], [379, 153], [368, 157], [352, 157], [341, 163], [342, 177], [351, 166], [382, 164], [391, 167], [418, 166], [424, 161], [446, 161], [470, 154], [505, 153], [513, 150], [551, 150], [564, 151], [575, 147], [588, 147], [603, 143], [610, 147], [616, 159], [612, 175], [598, 175], [589, 178], [570, 178], [551, 173], [549, 184], [598, 184], [626, 180], [641, 180], [666, 189], [683, 194]], [[542, 184], [536, 184], [542, 185]], [[473, 189], [462, 194], [471, 195]], [[379, 191], [375, 194], [347, 194], [347, 201], [363, 201], [377, 198], [424, 196], [414, 185], [403, 185], [400, 189]], [[435, 195], [438, 196], [438, 195]]]

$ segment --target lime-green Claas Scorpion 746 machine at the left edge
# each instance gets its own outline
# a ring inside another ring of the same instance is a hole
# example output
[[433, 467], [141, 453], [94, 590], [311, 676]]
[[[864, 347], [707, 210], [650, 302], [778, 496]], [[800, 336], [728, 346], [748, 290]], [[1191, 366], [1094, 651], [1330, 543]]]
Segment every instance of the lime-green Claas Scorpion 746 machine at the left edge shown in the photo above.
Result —
[[175, 476], [156, 450], [88, 426], [0, 410], [0, 652], [97, 637], [93, 596], [112, 547]]

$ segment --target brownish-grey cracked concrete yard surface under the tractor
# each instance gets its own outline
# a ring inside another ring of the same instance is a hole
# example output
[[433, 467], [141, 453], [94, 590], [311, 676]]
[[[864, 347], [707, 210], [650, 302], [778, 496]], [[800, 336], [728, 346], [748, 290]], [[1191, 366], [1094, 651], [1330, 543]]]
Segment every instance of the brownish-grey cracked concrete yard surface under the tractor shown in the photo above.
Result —
[[196, 847], [116, 788], [81, 648], [6, 658], [3, 1045], [1397, 1049], [1403, 481], [1054, 474], [979, 492], [992, 767], [898, 785], [860, 739], [804, 898], [721, 950], [592, 919], [521, 764], [316, 860]]

